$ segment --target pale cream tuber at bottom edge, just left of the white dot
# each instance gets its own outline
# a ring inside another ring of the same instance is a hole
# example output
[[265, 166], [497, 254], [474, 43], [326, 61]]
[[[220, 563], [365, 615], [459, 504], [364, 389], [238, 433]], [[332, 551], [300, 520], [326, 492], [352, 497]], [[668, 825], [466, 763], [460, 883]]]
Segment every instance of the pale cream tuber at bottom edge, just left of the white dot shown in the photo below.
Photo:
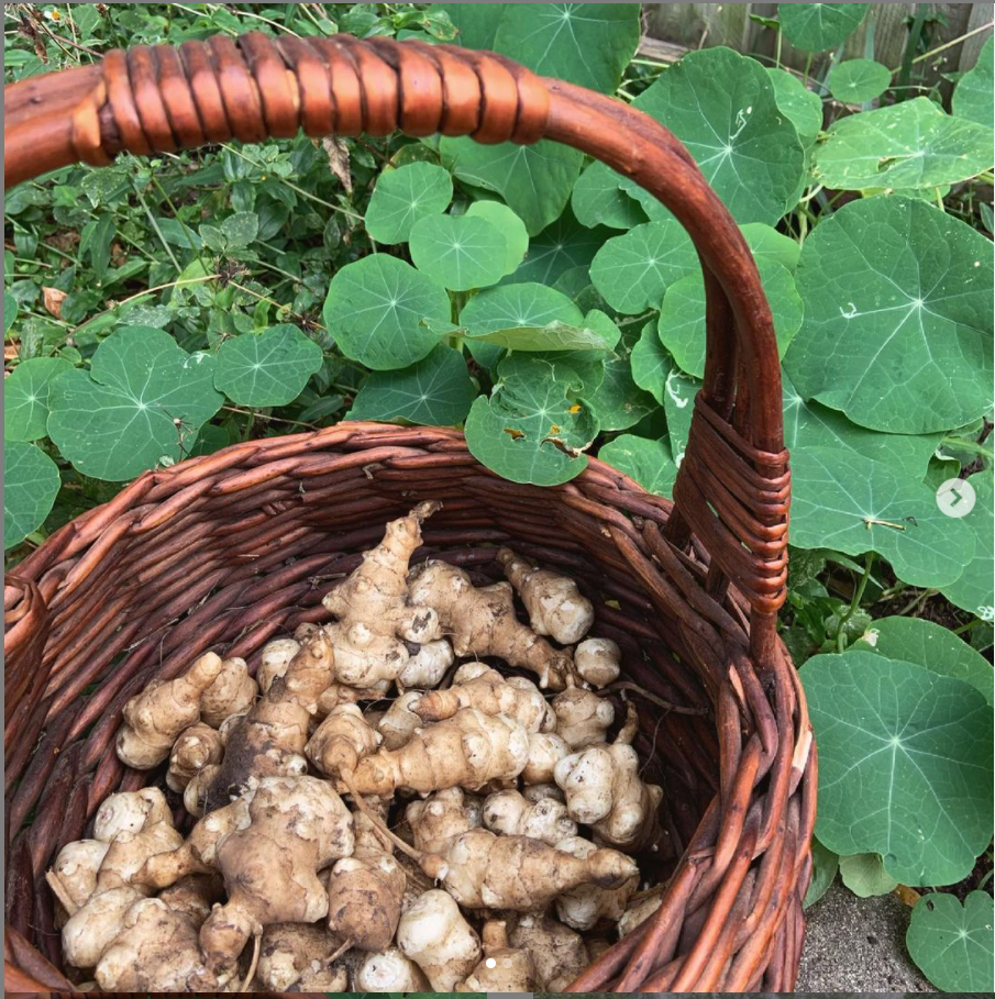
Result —
[[445, 891], [432, 889], [401, 917], [397, 945], [424, 972], [432, 989], [451, 992], [480, 959], [480, 939]]

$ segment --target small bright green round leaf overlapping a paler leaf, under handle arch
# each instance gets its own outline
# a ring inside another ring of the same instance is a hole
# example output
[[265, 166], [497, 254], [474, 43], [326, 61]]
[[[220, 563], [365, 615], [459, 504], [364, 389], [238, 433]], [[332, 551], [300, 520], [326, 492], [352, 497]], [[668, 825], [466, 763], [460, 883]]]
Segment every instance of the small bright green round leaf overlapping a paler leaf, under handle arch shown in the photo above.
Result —
[[414, 266], [453, 291], [497, 284], [507, 273], [508, 241], [474, 215], [431, 215], [408, 236]]

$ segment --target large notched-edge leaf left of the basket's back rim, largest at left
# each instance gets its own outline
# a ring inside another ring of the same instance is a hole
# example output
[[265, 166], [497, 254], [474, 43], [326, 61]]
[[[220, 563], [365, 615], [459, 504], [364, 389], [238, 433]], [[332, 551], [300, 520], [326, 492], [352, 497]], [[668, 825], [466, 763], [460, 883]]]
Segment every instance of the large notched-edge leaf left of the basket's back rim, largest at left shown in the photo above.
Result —
[[179, 460], [221, 408], [214, 358], [162, 330], [122, 326], [48, 389], [48, 436], [84, 475], [118, 482]]

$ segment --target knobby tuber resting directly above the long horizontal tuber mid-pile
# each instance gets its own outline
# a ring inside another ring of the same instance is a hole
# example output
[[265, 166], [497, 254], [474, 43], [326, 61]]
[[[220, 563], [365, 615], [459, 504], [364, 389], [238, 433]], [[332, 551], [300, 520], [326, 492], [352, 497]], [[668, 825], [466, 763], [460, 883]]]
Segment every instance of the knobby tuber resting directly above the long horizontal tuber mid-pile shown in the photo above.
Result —
[[513, 718], [528, 732], [549, 731], [556, 724], [545, 698], [524, 677], [504, 677], [484, 663], [466, 663], [453, 680], [447, 690], [423, 695], [411, 710], [425, 722], [452, 718], [461, 708], [476, 708], [484, 714]]

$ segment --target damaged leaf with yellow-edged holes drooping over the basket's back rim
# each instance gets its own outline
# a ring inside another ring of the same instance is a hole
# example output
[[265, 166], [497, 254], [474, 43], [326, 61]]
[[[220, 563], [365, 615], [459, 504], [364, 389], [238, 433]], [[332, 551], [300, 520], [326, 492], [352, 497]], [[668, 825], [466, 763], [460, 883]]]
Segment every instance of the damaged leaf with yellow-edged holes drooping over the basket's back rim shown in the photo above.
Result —
[[555, 486], [579, 475], [598, 422], [568, 398], [568, 381], [524, 354], [506, 357], [498, 378], [490, 398], [477, 397], [466, 419], [469, 453], [515, 482]]

